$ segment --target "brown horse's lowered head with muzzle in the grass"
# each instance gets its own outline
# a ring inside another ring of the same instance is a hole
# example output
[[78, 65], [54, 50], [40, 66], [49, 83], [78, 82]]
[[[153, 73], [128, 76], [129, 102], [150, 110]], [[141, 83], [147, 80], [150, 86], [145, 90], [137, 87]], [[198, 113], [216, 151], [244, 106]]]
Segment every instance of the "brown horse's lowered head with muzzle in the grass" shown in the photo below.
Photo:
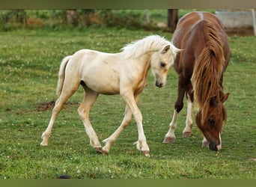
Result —
[[226, 93], [221, 97], [219, 101], [216, 100], [216, 96], [210, 99], [210, 105], [207, 109], [207, 114], [205, 119], [202, 114], [202, 108], [198, 111], [196, 115], [196, 123], [198, 128], [203, 132], [204, 137], [207, 138], [209, 142], [210, 150], [221, 150], [222, 149], [222, 123], [227, 119], [227, 113], [223, 103], [228, 99], [228, 94]]

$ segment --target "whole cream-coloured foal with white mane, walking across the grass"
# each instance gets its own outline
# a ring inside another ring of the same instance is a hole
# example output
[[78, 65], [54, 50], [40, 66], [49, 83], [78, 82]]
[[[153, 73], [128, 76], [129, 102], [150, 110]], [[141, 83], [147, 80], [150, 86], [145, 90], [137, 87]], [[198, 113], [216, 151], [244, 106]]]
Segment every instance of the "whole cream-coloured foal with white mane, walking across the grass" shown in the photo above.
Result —
[[[147, 85], [150, 68], [156, 79], [156, 87], [161, 88], [165, 85], [168, 70], [173, 66], [174, 58], [179, 51], [180, 49], [170, 41], [152, 35], [127, 44], [119, 53], [82, 49], [64, 58], [58, 75], [59, 97], [52, 110], [49, 125], [43, 132], [41, 145], [47, 146], [55, 118], [67, 99], [77, 91], [79, 85], [82, 85], [85, 97], [78, 108], [78, 113], [90, 138], [91, 146], [100, 153], [108, 154], [110, 147], [129, 124], [133, 114], [138, 126], [137, 149], [145, 156], [150, 156], [143, 131], [141, 111], [137, 106], [138, 96]], [[89, 120], [89, 111], [100, 93], [120, 94], [127, 104], [121, 126], [103, 141], [106, 143], [103, 148]]]

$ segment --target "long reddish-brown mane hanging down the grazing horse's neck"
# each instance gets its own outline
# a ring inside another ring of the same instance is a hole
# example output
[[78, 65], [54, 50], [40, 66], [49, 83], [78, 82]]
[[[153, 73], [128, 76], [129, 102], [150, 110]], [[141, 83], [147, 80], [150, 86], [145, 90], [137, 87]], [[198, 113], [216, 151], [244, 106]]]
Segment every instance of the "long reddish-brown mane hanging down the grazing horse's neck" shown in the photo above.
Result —
[[195, 100], [201, 108], [201, 123], [207, 120], [210, 102], [213, 96], [220, 100], [219, 91], [222, 91], [222, 73], [225, 66], [222, 38], [218, 30], [211, 23], [201, 21], [204, 25], [204, 48], [195, 60], [192, 84]]

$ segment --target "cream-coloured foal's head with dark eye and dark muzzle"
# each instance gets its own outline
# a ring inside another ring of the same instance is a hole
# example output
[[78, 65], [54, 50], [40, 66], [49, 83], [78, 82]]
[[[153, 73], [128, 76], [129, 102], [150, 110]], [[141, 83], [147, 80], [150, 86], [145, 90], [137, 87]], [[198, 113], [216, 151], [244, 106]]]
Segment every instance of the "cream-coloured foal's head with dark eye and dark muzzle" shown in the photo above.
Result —
[[156, 79], [156, 86], [161, 88], [166, 83], [167, 73], [174, 64], [174, 59], [180, 49], [171, 43], [163, 47], [160, 51], [153, 52], [150, 59], [150, 66], [153, 76]]

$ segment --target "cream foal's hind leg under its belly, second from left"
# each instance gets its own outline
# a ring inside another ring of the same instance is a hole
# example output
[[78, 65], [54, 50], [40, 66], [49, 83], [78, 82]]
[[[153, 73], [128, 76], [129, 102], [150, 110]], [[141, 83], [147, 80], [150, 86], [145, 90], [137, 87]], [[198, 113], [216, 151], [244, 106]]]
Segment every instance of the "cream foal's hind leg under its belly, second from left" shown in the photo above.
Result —
[[92, 147], [94, 147], [97, 152], [101, 152], [101, 145], [100, 141], [97, 137], [96, 132], [94, 131], [94, 128], [91, 126], [91, 122], [89, 120], [89, 112], [91, 107], [94, 105], [94, 102], [97, 99], [97, 96], [99, 96], [99, 93], [91, 91], [89, 88], [86, 88], [85, 85], [83, 85], [85, 89], [85, 97], [81, 103], [81, 105], [78, 108], [79, 117], [81, 118], [82, 122], [85, 126], [85, 131], [90, 138], [90, 144]]

